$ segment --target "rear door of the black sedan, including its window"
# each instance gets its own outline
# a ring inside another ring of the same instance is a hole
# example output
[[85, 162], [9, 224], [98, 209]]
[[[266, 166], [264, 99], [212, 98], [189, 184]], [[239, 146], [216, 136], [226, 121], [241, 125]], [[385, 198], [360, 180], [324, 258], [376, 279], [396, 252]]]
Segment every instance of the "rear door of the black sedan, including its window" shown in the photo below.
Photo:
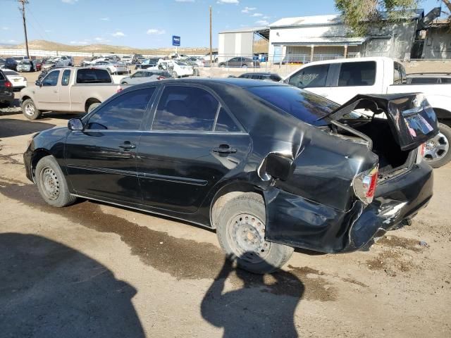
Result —
[[249, 135], [214, 94], [166, 85], [138, 150], [144, 204], [194, 213], [217, 182], [242, 170], [249, 147]]

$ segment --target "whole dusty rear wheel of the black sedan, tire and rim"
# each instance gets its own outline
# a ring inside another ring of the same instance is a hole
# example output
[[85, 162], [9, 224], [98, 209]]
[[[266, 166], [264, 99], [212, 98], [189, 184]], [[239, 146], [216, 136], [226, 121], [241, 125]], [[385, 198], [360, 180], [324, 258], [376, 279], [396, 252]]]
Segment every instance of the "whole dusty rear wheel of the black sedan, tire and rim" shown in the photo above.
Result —
[[[290, 246], [266, 242], [265, 222], [264, 200], [252, 192], [227, 201], [218, 215], [219, 244], [230, 260], [251, 273], [273, 273], [288, 262], [294, 251]], [[254, 244], [248, 244], [252, 241]], [[254, 249], [249, 249], [250, 246]]]

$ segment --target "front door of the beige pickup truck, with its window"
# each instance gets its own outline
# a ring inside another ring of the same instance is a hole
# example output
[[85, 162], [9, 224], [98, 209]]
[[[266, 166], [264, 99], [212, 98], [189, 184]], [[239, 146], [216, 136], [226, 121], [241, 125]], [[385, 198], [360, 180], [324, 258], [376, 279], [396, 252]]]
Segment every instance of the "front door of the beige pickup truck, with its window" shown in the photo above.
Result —
[[52, 70], [42, 80], [42, 85], [36, 88], [35, 104], [42, 111], [58, 111], [60, 70]]

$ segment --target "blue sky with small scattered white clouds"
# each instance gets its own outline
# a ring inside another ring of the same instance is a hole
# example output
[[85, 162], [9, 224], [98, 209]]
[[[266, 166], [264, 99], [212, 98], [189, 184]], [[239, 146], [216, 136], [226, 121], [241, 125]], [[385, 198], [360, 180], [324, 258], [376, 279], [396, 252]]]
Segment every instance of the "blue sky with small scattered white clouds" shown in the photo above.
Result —
[[[437, 0], [423, 0], [426, 12]], [[267, 25], [280, 18], [336, 13], [333, 0], [29, 0], [28, 39], [63, 44], [111, 44], [135, 48], [209, 46], [209, 6], [213, 46], [222, 30]], [[25, 41], [17, 0], [0, 0], [0, 43]]]

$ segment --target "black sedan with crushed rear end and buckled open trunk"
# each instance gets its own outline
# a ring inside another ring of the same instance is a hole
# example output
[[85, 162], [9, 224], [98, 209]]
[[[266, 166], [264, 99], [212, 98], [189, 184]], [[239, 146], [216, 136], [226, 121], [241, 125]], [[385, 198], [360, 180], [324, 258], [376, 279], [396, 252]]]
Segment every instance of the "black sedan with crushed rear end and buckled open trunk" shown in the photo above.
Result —
[[238, 265], [268, 273], [294, 247], [355, 251], [407, 223], [432, 196], [419, 149], [437, 132], [416, 94], [338, 106], [275, 82], [162, 80], [36, 134], [24, 159], [52, 206], [82, 197], [215, 228]]

